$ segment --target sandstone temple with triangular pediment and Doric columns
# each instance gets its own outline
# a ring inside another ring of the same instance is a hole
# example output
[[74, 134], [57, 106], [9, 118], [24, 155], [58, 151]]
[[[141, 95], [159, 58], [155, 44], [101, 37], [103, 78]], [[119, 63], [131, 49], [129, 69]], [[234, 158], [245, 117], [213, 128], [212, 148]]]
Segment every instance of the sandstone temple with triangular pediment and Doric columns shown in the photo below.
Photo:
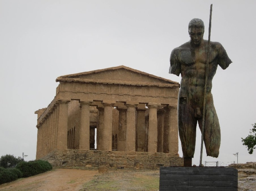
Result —
[[56, 82], [52, 102], [35, 112], [36, 159], [90, 150], [178, 157], [179, 83], [125, 66], [60, 76]]

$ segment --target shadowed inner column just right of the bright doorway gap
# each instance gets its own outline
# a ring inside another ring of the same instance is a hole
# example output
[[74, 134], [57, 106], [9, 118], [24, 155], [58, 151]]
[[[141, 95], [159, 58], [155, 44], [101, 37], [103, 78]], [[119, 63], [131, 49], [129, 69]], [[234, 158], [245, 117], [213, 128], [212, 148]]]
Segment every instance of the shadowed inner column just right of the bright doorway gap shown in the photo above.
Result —
[[97, 150], [102, 150], [102, 135], [103, 135], [103, 128], [104, 128], [104, 106], [99, 105], [97, 106], [99, 111], [98, 113], [98, 124], [97, 124], [97, 135], [96, 135], [96, 143], [97, 143]]

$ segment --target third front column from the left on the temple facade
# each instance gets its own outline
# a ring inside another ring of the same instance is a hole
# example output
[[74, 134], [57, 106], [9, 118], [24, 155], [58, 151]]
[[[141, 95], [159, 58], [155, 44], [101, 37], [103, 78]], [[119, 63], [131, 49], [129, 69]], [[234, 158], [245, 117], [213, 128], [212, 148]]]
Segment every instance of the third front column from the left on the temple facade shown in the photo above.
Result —
[[102, 131], [102, 150], [111, 151], [112, 150], [112, 120], [113, 111], [112, 107], [116, 101], [106, 101], [103, 100], [102, 104], [104, 106], [104, 127]]

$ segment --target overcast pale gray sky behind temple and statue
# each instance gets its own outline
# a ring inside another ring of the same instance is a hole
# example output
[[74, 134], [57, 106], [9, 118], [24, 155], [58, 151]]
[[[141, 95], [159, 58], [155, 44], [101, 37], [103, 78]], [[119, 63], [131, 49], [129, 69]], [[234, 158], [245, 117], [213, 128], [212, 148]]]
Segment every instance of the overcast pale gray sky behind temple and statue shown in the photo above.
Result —
[[[242, 145], [256, 123], [256, 1], [0, 0], [0, 156], [36, 158], [34, 112], [47, 107], [58, 76], [124, 65], [180, 82], [168, 74], [172, 49], [189, 40], [188, 22], [200, 18], [208, 39], [233, 63], [217, 69], [212, 94], [220, 121], [221, 164], [256, 161]], [[199, 163], [201, 136], [197, 129]], [[182, 156], [181, 147], [179, 147]]]

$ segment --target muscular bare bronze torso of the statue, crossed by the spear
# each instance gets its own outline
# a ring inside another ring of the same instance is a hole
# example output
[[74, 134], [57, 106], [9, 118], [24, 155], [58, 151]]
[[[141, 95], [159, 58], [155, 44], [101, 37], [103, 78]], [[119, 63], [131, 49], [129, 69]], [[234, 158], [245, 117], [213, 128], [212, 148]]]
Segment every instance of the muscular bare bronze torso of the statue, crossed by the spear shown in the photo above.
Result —
[[[182, 97], [202, 99], [205, 84], [207, 44], [194, 49], [187, 43], [178, 49], [180, 52], [178, 59], [181, 65], [180, 94]], [[212, 78], [218, 67], [216, 59], [218, 53], [216, 46], [214, 49], [210, 48], [207, 93], [211, 92], [212, 89]]]

